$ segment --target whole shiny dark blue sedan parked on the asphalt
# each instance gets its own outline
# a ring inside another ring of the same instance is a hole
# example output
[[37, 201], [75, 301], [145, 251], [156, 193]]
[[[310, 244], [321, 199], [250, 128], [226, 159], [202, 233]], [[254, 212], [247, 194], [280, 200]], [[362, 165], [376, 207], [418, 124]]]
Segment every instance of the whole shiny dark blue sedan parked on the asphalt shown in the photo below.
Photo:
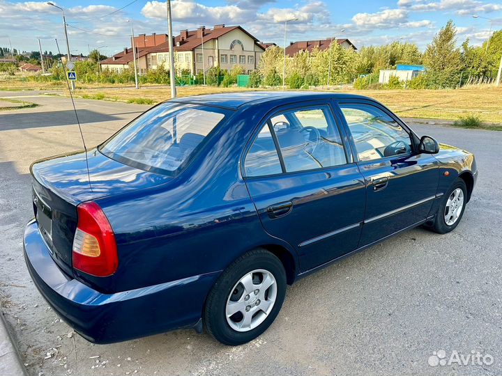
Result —
[[29, 272], [84, 338], [263, 333], [288, 284], [404, 230], [448, 233], [474, 156], [367, 97], [163, 102], [100, 146], [35, 162]]

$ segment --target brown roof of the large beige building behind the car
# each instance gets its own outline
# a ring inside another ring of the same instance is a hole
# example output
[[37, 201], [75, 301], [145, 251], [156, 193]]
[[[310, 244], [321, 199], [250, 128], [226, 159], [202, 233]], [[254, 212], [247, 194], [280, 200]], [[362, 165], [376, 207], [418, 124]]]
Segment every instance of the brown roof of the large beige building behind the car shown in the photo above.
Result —
[[[245, 31], [241, 26], [217, 25], [214, 27], [214, 29], [204, 29], [204, 38], [199, 37], [199, 30], [181, 31], [180, 34], [174, 37], [174, 51], [193, 51], [195, 48], [202, 45], [203, 40], [204, 43], [209, 42], [210, 40], [220, 38], [220, 36], [223, 36], [226, 33], [229, 33], [230, 31], [234, 31], [236, 29], [240, 29], [241, 31], [243, 31], [243, 33], [248, 34], [248, 36], [250, 36], [250, 38], [254, 40], [255, 45], [257, 45], [261, 49], [265, 49], [259, 44], [257, 38], [254, 38], [254, 36], [248, 33], [248, 31]], [[169, 52], [169, 40], [153, 47], [137, 47], [136, 58], [140, 58], [154, 52]], [[101, 63], [126, 65], [130, 63], [132, 59], [132, 48], [128, 48], [124, 49], [124, 51], [119, 52], [119, 54], [115, 54], [114, 56], [101, 61]]]

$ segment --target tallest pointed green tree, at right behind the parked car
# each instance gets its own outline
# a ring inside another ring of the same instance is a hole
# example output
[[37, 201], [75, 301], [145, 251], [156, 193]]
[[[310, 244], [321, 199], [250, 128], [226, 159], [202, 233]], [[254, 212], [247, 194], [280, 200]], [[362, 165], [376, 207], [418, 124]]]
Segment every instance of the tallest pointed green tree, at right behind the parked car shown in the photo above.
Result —
[[425, 49], [424, 64], [429, 69], [427, 77], [432, 88], [452, 88], [459, 82], [463, 67], [456, 36], [457, 29], [450, 19]]

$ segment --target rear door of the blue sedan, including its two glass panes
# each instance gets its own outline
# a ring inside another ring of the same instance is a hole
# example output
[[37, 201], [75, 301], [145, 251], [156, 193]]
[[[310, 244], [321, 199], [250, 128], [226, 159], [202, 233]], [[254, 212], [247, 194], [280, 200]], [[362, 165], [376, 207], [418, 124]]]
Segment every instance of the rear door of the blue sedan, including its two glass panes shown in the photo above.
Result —
[[365, 184], [347, 141], [328, 102], [316, 102], [272, 113], [245, 154], [261, 223], [298, 251], [302, 271], [358, 245]]

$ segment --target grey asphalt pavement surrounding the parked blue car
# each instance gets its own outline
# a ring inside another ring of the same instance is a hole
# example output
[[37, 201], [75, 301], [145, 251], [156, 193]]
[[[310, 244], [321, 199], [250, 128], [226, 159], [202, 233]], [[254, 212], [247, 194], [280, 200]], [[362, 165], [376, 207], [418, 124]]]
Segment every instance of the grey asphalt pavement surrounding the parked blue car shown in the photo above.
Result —
[[[0, 92], [19, 95], [37, 93]], [[272, 327], [252, 343], [227, 347], [180, 330], [91, 345], [67, 336], [71, 329], [24, 265], [22, 232], [33, 216], [29, 164], [82, 148], [68, 98], [26, 100], [40, 107], [0, 112], [0, 308], [31, 375], [502, 373], [502, 132], [413, 126], [476, 154], [478, 185], [457, 229], [411, 230], [299, 281]], [[93, 145], [146, 107], [77, 100], [77, 108]], [[439, 350], [447, 360], [455, 351], [464, 359], [479, 351], [493, 362], [429, 366]]]

